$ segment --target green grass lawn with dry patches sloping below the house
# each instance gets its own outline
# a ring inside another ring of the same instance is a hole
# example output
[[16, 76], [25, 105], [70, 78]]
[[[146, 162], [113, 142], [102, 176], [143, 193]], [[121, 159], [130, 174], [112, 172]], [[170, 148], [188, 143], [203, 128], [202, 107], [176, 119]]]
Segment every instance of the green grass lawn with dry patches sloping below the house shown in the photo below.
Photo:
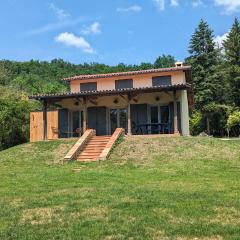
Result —
[[0, 239], [240, 239], [240, 141], [127, 138], [59, 164], [72, 144], [0, 152]]

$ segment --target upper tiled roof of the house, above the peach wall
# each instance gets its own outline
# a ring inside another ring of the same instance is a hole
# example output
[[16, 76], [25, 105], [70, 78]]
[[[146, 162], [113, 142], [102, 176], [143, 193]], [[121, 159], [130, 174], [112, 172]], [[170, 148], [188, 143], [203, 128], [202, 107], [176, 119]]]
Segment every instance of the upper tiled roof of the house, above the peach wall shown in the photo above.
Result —
[[122, 76], [131, 76], [131, 75], [141, 75], [141, 74], [147, 74], [147, 73], [164, 73], [164, 72], [190, 71], [190, 70], [191, 70], [191, 66], [182, 66], [182, 67], [158, 68], [158, 69], [148, 69], [148, 70], [139, 70], [139, 71], [130, 71], [130, 72], [78, 75], [78, 76], [64, 78], [63, 80], [73, 81], [73, 80], [83, 80], [83, 79], [122, 77]]

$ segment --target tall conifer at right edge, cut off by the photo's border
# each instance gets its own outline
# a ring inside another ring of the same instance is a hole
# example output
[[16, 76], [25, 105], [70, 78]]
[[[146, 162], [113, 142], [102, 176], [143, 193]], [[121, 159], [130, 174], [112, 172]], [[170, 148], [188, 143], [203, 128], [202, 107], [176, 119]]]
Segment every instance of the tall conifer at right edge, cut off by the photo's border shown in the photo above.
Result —
[[223, 43], [232, 102], [240, 106], [240, 22], [237, 18]]

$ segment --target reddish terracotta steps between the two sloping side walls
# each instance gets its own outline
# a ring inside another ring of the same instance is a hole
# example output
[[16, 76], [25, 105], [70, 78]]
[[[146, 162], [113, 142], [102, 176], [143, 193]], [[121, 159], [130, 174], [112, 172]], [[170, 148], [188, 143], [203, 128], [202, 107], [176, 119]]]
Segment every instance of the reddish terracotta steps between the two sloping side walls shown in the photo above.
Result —
[[77, 157], [77, 161], [91, 162], [99, 160], [102, 151], [106, 148], [111, 136], [92, 136]]

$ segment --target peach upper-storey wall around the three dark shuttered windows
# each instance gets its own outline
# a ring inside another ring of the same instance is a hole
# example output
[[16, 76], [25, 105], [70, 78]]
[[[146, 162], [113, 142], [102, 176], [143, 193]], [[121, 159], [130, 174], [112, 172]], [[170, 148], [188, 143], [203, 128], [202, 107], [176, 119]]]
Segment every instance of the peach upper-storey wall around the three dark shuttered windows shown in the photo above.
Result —
[[73, 80], [70, 82], [71, 92], [80, 91], [80, 83], [97, 82], [97, 90], [113, 90], [115, 89], [115, 80], [121, 79], [133, 79], [133, 87], [151, 87], [152, 77], [154, 76], [172, 76], [172, 84], [185, 83], [185, 73], [183, 71], [169, 72], [169, 73], [151, 73], [141, 74], [123, 77], [111, 77], [111, 78], [98, 78], [98, 79], [87, 79], [87, 80]]

